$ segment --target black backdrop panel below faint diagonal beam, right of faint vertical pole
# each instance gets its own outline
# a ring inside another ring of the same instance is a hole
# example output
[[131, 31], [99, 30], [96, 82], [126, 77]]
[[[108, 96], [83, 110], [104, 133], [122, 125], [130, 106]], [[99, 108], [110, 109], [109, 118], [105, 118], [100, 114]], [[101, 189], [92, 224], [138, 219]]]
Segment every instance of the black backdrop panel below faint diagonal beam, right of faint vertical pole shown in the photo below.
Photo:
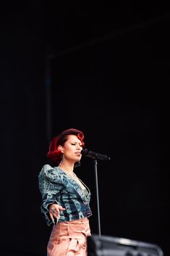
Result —
[[[111, 157], [98, 160], [101, 234], [155, 243], [169, 255], [170, 65], [138, 32], [51, 58], [52, 135], [79, 128], [88, 149]], [[93, 160], [82, 158], [75, 172], [92, 190], [98, 234]]]

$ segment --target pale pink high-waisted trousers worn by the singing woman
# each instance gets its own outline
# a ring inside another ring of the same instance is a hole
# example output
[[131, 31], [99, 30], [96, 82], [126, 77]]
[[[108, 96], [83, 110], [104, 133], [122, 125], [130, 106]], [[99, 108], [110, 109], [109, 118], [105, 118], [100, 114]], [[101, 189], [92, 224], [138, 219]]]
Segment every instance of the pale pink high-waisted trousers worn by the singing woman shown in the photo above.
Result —
[[59, 222], [53, 226], [47, 245], [47, 256], [87, 256], [88, 218]]

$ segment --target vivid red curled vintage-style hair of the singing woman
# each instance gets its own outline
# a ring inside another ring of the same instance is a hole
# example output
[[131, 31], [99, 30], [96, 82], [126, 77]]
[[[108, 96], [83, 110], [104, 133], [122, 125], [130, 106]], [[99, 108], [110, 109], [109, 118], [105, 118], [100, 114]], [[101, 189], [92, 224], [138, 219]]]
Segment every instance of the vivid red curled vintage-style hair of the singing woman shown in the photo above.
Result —
[[55, 136], [51, 140], [49, 150], [47, 153], [48, 160], [51, 160], [51, 162], [54, 162], [54, 163], [59, 163], [61, 161], [62, 153], [59, 150], [59, 145], [64, 146], [64, 143], [67, 141], [68, 135], [77, 136], [77, 138], [80, 139], [82, 143], [82, 147], [85, 146], [85, 143], [83, 141], [84, 134], [82, 133], [82, 131], [77, 130], [75, 128], [69, 128], [59, 133], [58, 136]]

